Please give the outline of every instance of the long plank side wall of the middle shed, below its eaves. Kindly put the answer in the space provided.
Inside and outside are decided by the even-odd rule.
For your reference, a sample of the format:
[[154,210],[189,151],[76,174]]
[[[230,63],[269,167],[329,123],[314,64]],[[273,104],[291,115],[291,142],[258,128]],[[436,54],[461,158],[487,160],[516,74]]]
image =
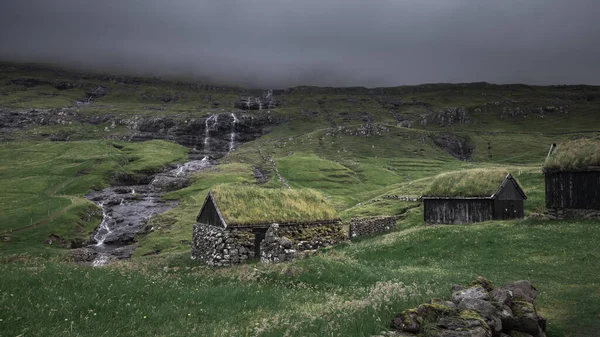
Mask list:
[[492,220],[494,201],[490,199],[424,199],[425,222],[461,224]]

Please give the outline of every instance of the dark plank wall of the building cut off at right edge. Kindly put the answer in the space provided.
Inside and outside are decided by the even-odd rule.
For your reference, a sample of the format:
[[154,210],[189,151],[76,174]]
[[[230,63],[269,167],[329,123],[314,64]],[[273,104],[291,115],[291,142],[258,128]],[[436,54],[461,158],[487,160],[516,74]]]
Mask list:
[[547,173],[546,208],[600,209],[600,172]]

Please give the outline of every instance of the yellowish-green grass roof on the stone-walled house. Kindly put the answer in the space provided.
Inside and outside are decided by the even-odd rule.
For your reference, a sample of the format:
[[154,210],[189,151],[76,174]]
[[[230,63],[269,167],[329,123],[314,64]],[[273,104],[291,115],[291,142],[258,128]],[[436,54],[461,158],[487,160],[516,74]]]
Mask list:
[[337,212],[313,189],[217,185],[211,190],[228,225],[337,220]]

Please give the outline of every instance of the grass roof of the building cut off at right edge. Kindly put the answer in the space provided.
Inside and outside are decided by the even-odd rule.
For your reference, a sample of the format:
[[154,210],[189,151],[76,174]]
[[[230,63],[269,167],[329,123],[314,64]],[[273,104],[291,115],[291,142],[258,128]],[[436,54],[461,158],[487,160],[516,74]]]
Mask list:
[[590,169],[600,169],[600,138],[560,143],[544,165],[544,172],[577,172]]

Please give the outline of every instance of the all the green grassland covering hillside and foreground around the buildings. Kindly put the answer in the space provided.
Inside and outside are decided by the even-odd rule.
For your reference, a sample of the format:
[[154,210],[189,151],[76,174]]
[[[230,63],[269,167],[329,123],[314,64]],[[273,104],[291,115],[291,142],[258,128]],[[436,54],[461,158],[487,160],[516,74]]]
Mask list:
[[[46,82],[27,87],[15,84],[20,78]],[[56,81],[74,86],[59,90]],[[99,85],[108,88],[106,96],[73,106]],[[246,93],[0,65],[0,109],[6,111],[202,117],[231,110]],[[102,217],[83,196],[120,176],[184,162],[188,149],[116,141],[132,131],[107,123],[0,134],[0,336],[371,336],[388,329],[396,313],[448,297],[453,284],[479,275],[497,285],[531,280],[548,336],[600,336],[600,223],[538,216],[545,211],[542,168],[549,146],[600,134],[600,88],[478,83],[298,87],[276,95],[282,105],[272,113],[280,125],[193,175],[186,188],[164,194],[177,206],[150,220],[154,230],[137,238],[131,260],[102,268],[69,259],[68,248],[83,242]],[[463,107],[469,121],[441,126],[423,117],[451,107]],[[366,124],[376,132],[365,134],[371,130]],[[70,140],[50,141],[55,133]],[[435,144],[447,134],[470,142],[471,161]],[[570,161],[561,158],[560,165]],[[262,187],[318,191],[317,199],[322,195],[334,209],[327,211],[343,221],[400,215],[397,228],[281,265],[209,268],[191,260],[192,225],[208,191],[258,185],[255,169],[267,177]],[[463,170],[510,172],[528,196],[527,218],[424,226],[422,205],[405,198],[439,189],[436,176]],[[489,189],[483,178],[474,178],[480,186],[463,187]]]

